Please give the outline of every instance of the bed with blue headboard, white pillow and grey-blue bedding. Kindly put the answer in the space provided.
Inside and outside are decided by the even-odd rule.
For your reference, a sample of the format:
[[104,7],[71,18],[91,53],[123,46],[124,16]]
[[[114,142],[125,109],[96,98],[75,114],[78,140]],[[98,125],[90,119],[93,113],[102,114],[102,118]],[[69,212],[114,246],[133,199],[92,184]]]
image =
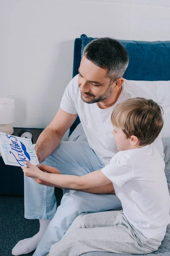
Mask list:
[[[78,74],[82,50],[94,38],[81,35],[74,43],[74,67],[73,77]],[[161,103],[164,108],[164,128],[162,130],[162,141],[164,145],[165,173],[170,192],[170,41],[128,41],[119,40],[127,49],[129,54],[129,66],[124,78],[140,84],[150,91],[152,98]],[[147,82],[145,82],[147,81]],[[82,129],[79,117],[71,126],[68,140],[87,140]],[[161,246],[156,252],[147,254],[153,256],[170,256],[170,224]],[[90,252],[85,256],[120,256],[125,254],[110,252]],[[128,254],[130,255],[130,254]],[[133,254],[134,255],[134,254]]]

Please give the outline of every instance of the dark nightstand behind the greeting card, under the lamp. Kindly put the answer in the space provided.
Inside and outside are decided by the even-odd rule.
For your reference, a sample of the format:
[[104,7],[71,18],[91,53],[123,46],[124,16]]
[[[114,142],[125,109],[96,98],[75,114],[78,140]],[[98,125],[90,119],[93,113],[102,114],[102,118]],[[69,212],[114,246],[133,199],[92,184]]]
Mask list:
[[[25,128],[14,128],[14,135]],[[33,134],[33,143],[36,143],[43,129],[28,128]],[[0,195],[23,195],[24,176],[23,170],[18,166],[8,166],[0,157]]]

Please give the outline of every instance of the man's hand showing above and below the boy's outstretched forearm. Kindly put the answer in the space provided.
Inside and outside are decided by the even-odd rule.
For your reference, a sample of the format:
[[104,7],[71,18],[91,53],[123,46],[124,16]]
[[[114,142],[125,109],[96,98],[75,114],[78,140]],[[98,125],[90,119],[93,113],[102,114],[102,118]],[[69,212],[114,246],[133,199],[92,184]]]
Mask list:
[[[55,167],[51,167],[51,166],[47,166],[45,164],[37,164],[37,167],[42,171],[42,172],[49,172],[49,173],[54,173],[54,174],[61,174],[61,172],[59,172],[59,170]],[[50,183],[50,182],[46,182],[46,181],[43,181],[43,180],[39,180],[39,179],[36,179],[36,178],[32,178],[33,180],[35,180],[38,184],[40,185],[44,185],[44,186],[56,186],[54,185],[53,183]],[[57,186],[59,187],[59,186]],[[59,187],[59,188],[62,188],[62,187]]]

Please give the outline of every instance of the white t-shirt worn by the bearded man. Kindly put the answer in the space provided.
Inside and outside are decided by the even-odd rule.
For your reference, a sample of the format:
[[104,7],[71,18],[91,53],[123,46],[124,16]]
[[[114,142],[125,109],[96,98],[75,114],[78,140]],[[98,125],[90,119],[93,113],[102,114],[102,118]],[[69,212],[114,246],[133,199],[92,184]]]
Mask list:
[[[88,144],[94,150],[96,155],[105,165],[118,152],[114,137],[112,134],[113,126],[111,123],[111,113],[116,105],[126,99],[150,96],[142,91],[136,84],[128,83],[125,80],[122,84],[122,91],[117,102],[110,108],[101,109],[97,103],[88,104],[83,102],[78,86],[78,75],[75,76],[65,89],[60,107],[65,112],[78,114],[85,131]],[[162,157],[164,157],[161,136],[154,142],[156,148]]]

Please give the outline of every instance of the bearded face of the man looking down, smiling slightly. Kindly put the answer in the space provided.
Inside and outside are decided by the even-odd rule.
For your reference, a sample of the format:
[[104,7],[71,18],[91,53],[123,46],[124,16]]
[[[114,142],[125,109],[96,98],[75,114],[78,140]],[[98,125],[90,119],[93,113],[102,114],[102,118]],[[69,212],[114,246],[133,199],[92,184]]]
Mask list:
[[113,83],[106,75],[106,69],[96,66],[85,56],[82,57],[78,84],[84,102],[88,104],[100,102],[111,95]]

